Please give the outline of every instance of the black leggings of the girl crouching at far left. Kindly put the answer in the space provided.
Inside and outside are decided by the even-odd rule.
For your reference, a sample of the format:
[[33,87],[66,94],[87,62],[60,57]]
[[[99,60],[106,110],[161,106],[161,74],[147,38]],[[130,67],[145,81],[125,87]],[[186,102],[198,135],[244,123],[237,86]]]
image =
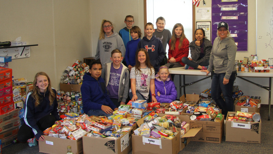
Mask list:
[[[41,118],[38,122],[37,125],[41,131],[44,131],[45,129],[52,127],[54,125],[56,119],[53,115],[49,114]],[[22,124],[20,127],[18,134],[17,134],[17,139],[20,142],[26,142],[28,139],[34,138],[34,133],[32,131],[32,128],[26,125],[26,123]],[[39,139],[39,138],[37,138]]]

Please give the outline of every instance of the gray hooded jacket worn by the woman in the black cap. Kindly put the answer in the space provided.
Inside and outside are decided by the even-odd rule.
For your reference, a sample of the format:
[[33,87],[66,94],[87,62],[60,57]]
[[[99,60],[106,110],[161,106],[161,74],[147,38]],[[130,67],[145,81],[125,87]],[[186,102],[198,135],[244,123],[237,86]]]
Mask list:
[[225,77],[229,80],[232,72],[236,72],[235,56],[237,46],[232,37],[216,37],[209,58],[208,71],[211,72],[214,66],[215,73],[226,73]]

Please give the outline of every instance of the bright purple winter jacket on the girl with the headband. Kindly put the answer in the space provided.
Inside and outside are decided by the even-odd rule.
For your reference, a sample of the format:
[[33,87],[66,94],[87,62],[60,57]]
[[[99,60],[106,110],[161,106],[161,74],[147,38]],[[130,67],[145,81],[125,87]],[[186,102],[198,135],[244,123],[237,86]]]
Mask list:
[[[155,98],[160,103],[171,103],[172,101],[177,99],[177,91],[175,85],[170,77],[167,78],[165,83],[160,80],[159,75],[157,74],[154,79],[155,85]],[[160,96],[157,95],[159,91]]]

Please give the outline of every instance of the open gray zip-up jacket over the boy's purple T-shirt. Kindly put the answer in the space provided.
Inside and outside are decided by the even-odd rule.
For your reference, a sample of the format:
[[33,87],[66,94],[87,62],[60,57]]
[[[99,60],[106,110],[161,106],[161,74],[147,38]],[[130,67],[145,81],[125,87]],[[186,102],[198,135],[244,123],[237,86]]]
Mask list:
[[[126,102],[126,99],[128,97],[129,93],[129,80],[130,80],[130,74],[129,74],[129,68],[127,68],[123,63],[120,63],[122,65],[121,70],[121,76],[120,76],[120,86],[119,86],[119,102]],[[111,69],[111,63],[106,63],[106,87],[109,83],[109,77],[110,77],[110,69]]]

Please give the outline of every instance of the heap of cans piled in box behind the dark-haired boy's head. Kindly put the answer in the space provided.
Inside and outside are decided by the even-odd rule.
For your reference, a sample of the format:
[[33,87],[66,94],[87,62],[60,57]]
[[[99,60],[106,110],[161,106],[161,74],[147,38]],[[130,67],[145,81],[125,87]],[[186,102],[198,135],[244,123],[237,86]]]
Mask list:
[[82,63],[80,60],[72,65],[68,66],[63,75],[61,76],[61,83],[65,84],[81,84],[84,73],[89,72],[89,66],[86,63]]

